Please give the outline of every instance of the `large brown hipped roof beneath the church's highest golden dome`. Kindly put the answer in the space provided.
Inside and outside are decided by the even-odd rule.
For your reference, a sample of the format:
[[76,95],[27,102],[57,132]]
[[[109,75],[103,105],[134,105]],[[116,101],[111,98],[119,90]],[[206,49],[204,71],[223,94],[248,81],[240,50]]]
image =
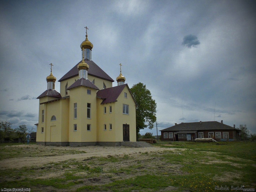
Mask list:
[[[86,62],[89,65],[88,75],[114,82],[114,80],[92,60],[84,59],[84,62]],[[69,72],[67,72],[63,77],[61,77],[59,82],[78,76],[77,66],[79,63],[77,63],[72,69],[70,69]]]

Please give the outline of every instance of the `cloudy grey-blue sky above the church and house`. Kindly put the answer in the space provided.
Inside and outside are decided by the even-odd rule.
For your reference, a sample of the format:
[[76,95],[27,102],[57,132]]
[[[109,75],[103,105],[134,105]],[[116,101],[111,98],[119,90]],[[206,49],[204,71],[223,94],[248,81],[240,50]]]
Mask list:
[[[223,120],[256,133],[255,1],[0,5],[0,120],[13,128],[38,122],[36,98],[47,89],[49,64],[57,80],[76,65],[87,26],[92,60],[113,79],[122,63],[130,88],[142,82],[151,91],[158,130]],[[156,126],[145,132],[156,135]]]

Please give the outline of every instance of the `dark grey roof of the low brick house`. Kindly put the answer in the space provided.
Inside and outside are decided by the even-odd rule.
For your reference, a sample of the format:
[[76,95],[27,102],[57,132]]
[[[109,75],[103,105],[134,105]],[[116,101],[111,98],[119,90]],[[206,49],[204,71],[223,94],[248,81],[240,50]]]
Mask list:
[[198,130],[236,130],[234,127],[217,122],[217,121],[205,121],[205,122],[191,122],[191,123],[180,123],[172,127],[168,127],[161,131],[198,131]]

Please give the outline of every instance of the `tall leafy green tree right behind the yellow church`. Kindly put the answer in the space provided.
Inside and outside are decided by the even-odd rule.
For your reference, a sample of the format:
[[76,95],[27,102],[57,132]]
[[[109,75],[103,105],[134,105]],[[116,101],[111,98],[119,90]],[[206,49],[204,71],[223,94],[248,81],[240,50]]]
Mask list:
[[156,122],[156,101],[152,99],[151,92],[146,85],[139,82],[132,86],[131,92],[137,103],[136,106],[136,137],[138,140],[141,129],[152,129]]

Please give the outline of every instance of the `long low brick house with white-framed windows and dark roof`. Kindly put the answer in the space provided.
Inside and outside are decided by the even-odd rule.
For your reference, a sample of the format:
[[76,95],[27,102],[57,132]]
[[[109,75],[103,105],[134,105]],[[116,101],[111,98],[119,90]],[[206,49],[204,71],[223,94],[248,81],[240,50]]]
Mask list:
[[240,141],[241,130],[217,121],[175,123],[161,130],[162,141],[194,141],[196,138],[213,138],[216,141]]

